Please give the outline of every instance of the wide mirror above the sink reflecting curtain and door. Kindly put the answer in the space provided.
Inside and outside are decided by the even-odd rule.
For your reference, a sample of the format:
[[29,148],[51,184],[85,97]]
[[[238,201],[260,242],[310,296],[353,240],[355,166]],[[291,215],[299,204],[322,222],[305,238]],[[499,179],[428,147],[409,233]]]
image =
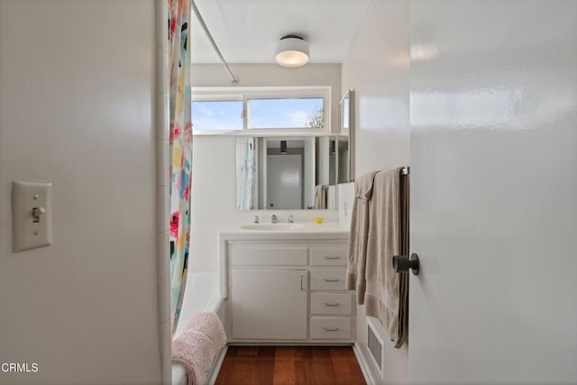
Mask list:
[[344,135],[236,138],[236,209],[336,209],[348,181]]

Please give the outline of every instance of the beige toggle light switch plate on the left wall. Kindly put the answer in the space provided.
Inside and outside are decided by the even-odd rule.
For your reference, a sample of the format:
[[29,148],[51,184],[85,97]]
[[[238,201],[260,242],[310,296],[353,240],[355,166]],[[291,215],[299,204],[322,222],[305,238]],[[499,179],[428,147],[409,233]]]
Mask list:
[[12,250],[52,243],[52,184],[12,182]]

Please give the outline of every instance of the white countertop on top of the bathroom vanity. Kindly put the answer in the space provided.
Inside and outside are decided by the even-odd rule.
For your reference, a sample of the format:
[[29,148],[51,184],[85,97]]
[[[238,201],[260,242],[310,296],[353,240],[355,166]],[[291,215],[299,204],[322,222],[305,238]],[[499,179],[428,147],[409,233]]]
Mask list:
[[342,222],[298,222],[296,225],[303,227],[294,230],[247,230],[241,225],[230,225],[218,236],[221,241],[349,239],[350,225]]

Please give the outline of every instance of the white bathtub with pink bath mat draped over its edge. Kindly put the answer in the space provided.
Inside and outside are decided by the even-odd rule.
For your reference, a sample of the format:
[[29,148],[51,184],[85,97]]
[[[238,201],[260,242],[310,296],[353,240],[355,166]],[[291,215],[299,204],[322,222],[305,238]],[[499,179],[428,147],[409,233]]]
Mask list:
[[[217,274],[215,272],[188,272],[179,325],[174,338],[182,333],[190,317],[203,311],[215,312],[223,325],[226,325],[224,323],[224,298],[218,296]],[[223,358],[224,352],[215,358],[213,374],[209,376],[209,381],[215,380],[215,374],[220,369]],[[187,385],[187,374],[182,366],[175,363],[172,364],[172,385]]]

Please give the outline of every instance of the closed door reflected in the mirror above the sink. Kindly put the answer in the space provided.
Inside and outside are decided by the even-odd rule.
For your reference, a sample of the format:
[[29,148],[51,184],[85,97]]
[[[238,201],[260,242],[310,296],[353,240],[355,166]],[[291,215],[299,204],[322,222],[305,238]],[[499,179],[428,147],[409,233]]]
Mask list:
[[302,157],[267,156],[267,208],[302,207]]

